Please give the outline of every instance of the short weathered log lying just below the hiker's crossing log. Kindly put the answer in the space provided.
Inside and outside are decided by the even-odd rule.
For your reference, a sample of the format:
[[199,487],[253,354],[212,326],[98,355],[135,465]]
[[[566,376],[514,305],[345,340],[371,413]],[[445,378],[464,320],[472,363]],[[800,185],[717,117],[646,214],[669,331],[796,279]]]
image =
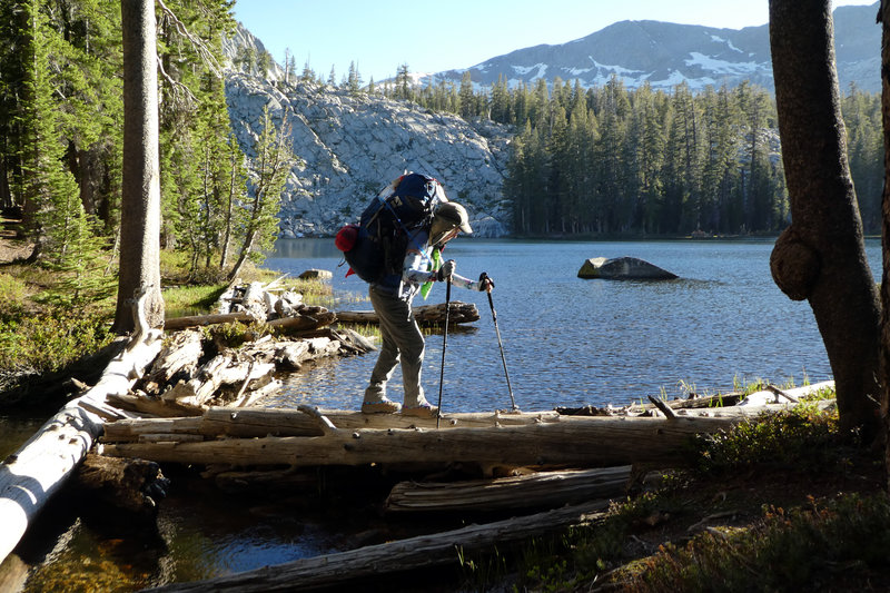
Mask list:
[[399,482],[384,504],[387,513],[502,511],[554,507],[614,498],[625,493],[631,466],[535,472],[463,482]]

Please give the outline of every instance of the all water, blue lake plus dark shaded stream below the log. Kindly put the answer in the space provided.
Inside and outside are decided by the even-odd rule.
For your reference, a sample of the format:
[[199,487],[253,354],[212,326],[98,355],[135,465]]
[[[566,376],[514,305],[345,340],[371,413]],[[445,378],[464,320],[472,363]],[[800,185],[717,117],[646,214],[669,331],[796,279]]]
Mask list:
[[[332,239],[280,241],[267,265],[298,275],[334,271],[342,309],[369,308],[366,285],[344,278]],[[876,278],[880,245],[867,245]],[[446,251],[457,271],[487,271],[496,281],[504,352],[516,404],[624,405],[664,392],[684,395],[730,391],[735,380],[774,383],[831,378],[805,303],[789,300],[769,270],[771,240],[531,243],[457,239]],[[678,280],[582,280],[590,257],[633,256],[678,274]],[[481,319],[448,335],[443,407],[446,412],[510,407],[497,337],[484,294],[454,288],[452,298],[475,303]],[[444,300],[436,286],[427,303]],[[419,304],[418,300],[416,304]],[[438,397],[441,334],[427,338],[425,387]],[[357,408],[376,354],[328,360],[293,375],[266,405]],[[390,395],[400,398],[400,375]],[[693,387],[694,386],[694,387]],[[14,451],[41,421],[0,417],[0,453]],[[376,537],[405,537],[442,527],[424,518],[382,518],[355,498],[224,494],[192,474],[177,474],[161,502],[159,533],[115,531],[82,517],[58,496],[41,513],[17,553],[30,567],[27,593],[49,590],[135,591],[246,571],[349,550]],[[348,490],[348,488],[347,488]],[[353,488],[356,490],[356,488]],[[343,496],[340,494],[339,496]]]

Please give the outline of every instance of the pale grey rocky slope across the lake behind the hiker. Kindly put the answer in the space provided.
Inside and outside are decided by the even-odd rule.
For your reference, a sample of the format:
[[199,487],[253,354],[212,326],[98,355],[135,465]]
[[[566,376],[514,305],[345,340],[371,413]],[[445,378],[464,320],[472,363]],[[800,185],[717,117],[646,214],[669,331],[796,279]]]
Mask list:
[[[237,38],[225,46],[230,58],[238,43],[258,41],[239,28]],[[506,127],[469,123],[408,101],[316,82],[284,83],[277,71],[269,73],[261,77],[229,65],[226,100],[233,130],[248,155],[261,131],[265,106],[278,125],[286,119],[290,127],[298,161],[281,198],[283,237],[335,234],[405,170],[436,177],[448,197],[469,211],[474,235],[506,234]]]

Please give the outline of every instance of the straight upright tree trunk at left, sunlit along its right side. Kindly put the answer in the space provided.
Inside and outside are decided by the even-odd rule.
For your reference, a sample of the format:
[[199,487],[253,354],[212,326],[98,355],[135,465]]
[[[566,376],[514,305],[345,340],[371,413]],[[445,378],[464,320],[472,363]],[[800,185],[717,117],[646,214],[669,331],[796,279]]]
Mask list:
[[129,299],[145,290],[146,320],[164,324],[160,294],[160,165],[157,33],[154,0],[121,0],[123,33],[123,182],[120,278],[115,330],[134,328]]

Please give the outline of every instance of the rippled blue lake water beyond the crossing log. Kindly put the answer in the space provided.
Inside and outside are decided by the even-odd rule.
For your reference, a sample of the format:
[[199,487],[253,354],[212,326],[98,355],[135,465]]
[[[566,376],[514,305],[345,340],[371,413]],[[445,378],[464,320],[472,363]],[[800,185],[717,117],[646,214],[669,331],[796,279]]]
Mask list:
[[[730,391],[735,382],[768,379],[800,385],[831,378],[810,306],[785,297],[769,269],[773,240],[640,243],[534,243],[457,239],[446,256],[457,273],[496,281],[493,303],[516,405],[623,405],[646,395]],[[868,244],[879,274],[880,245]],[[669,281],[584,280],[591,257],[633,256],[673,271]],[[345,278],[329,239],[279,241],[267,265],[298,275],[334,273],[342,309],[369,309],[366,285]],[[876,276],[880,277],[880,276]],[[426,304],[445,299],[435,286]],[[355,303],[355,298],[364,298]],[[481,319],[448,335],[443,408],[452,412],[510,407],[497,336],[485,294],[459,288],[452,298],[474,303]],[[424,304],[419,298],[415,305]],[[424,386],[438,397],[442,335],[427,338]],[[323,363],[295,375],[270,405],[309,403],[356,408],[376,353]],[[390,395],[402,397],[396,372]]]

